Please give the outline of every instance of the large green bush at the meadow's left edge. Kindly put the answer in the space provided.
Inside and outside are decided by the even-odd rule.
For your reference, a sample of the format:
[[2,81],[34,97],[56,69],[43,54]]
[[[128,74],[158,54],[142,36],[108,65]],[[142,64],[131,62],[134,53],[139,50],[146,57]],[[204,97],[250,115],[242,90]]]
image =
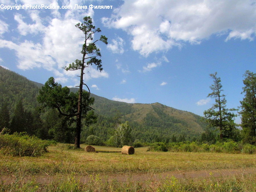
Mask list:
[[22,133],[0,135],[0,149],[8,149],[6,151],[15,156],[41,156],[50,144],[49,141]]

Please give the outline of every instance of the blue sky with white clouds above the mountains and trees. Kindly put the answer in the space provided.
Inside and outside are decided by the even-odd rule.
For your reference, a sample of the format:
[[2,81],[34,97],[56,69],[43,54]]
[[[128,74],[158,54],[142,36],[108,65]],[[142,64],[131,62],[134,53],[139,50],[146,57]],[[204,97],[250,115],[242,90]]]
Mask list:
[[84,16],[102,31],[94,40],[108,38],[97,42],[104,70],[86,68],[84,82],[110,100],[203,116],[214,103],[209,74],[221,78],[227,108],[238,108],[243,74],[256,72],[255,0],[0,0],[0,65],[42,84],[54,77],[77,86],[80,72],[62,67],[82,58],[75,24]]

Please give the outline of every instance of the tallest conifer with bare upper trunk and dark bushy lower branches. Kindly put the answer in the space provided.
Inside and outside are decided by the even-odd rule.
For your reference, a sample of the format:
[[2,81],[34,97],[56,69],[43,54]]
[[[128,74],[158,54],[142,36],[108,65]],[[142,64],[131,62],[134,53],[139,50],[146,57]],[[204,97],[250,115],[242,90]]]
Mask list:
[[[93,41],[93,36],[95,33],[101,32],[100,28],[95,29],[95,26],[92,25],[92,19],[90,16],[83,18],[83,23],[78,23],[75,25],[77,28],[82,30],[84,33],[84,44],[82,46],[82,58],[76,59],[75,63],[69,64],[69,66],[63,67],[66,71],[76,71],[80,70],[80,83],[79,83],[79,91],[76,94],[69,93],[68,87],[63,87],[61,84],[54,82],[54,78],[51,77],[40,90],[40,94],[38,96],[38,101],[40,103],[45,103],[47,106],[51,108],[56,108],[59,113],[63,116],[70,117],[69,119],[72,121],[72,117],[76,117],[76,130],[75,130],[75,147],[80,148],[80,133],[81,133],[81,121],[82,117],[91,118],[93,115],[88,114],[87,111],[92,109],[90,105],[93,104],[94,98],[90,97],[90,90],[88,86],[84,83],[84,69],[86,67],[90,67],[91,65],[96,65],[97,69],[102,71],[102,61],[96,57],[101,57],[100,49],[97,48],[96,42],[102,41],[105,44],[108,44],[105,36],[100,36],[100,38],[96,41]],[[85,85],[88,92],[83,92],[83,85]],[[77,100],[77,101],[75,101]],[[76,106],[75,106],[76,105]],[[87,116],[87,117],[86,117]],[[95,118],[94,118],[95,119]],[[87,120],[86,122],[93,122]]]

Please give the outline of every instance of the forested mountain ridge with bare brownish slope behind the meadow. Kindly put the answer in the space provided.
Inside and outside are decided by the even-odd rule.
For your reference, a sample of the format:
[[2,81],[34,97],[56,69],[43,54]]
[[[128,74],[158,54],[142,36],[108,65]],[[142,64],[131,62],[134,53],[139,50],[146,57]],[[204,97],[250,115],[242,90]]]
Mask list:
[[[17,73],[0,66],[0,107],[7,102],[13,111],[15,103],[22,98],[24,108],[32,110],[39,104],[36,102],[41,83],[30,81]],[[70,88],[76,92],[78,88]],[[95,98],[92,108],[98,114],[98,122],[84,129],[81,138],[97,135],[103,140],[113,135],[116,119],[129,121],[133,139],[143,141],[168,141],[172,135],[185,136],[186,139],[198,137],[205,130],[202,117],[191,112],[178,110],[160,103],[129,104],[109,100],[91,94]]]

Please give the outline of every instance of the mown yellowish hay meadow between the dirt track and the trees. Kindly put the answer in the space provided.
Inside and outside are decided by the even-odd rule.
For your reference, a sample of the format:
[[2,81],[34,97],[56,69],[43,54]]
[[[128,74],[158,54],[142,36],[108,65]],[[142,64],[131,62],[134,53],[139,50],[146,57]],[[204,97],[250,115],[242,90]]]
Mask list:
[[[82,148],[85,145],[81,145]],[[0,153],[1,174],[24,170],[26,174],[56,173],[125,174],[192,171],[214,169],[255,168],[255,155],[223,153],[146,152],[136,148],[132,156],[121,155],[121,148],[93,146],[99,153],[67,150],[66,144],[50,146],[40,157],[13,157]]]

